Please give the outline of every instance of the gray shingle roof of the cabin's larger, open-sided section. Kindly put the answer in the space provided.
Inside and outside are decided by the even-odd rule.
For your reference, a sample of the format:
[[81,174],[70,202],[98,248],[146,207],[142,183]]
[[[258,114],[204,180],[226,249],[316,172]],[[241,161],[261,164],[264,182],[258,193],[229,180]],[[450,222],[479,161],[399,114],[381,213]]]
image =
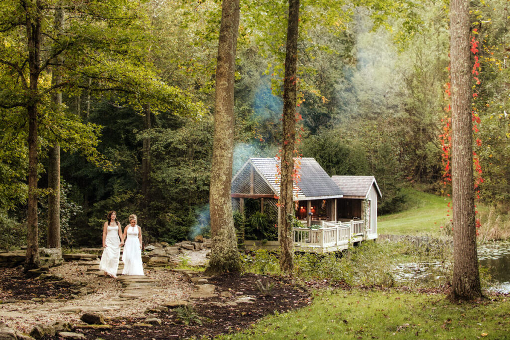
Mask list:
[[[250,158],[248,162],[268,181],[274,191],[280,193],[280,178],[277,166],[279,161],[276,158]],[[247,162],[247,163],[248,163]],[[300,160],[298,188],[294,188],[294,195],[299,199],[310,197],[342,197],[342,192],[313,158],[302,158]],[[238,175],[241,174],[241,171]],[[236,177],[238,176],[236,175]],[[234,180],[237,178],[234,177]]]

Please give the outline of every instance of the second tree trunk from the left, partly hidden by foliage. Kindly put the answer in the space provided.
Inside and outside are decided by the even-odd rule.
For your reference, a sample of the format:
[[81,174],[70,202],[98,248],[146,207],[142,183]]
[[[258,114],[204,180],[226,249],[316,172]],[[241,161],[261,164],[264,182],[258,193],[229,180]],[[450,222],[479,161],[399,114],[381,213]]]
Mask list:
[[[64,28],[64,11],[61,7],[55,10],[55,30],[59,33]],[[52,85],[62,82],[62,73],[57,65],[62,64],[61,56],[55,58],[52,68]],[[52,101],[57,112],[62,111],[62,92],[55,91]],[[48,248],[61,248],[60,243],[60,144],[55,142],[49,148],[48,167]]]

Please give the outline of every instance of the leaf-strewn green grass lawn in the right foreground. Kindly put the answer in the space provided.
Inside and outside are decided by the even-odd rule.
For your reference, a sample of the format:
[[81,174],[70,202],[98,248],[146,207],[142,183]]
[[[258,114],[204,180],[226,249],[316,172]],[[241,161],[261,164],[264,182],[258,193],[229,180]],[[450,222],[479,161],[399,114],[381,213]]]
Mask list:
[[220,339],[507,339],[510,299],[452,304],[444,295],[316,293],[312,305]]

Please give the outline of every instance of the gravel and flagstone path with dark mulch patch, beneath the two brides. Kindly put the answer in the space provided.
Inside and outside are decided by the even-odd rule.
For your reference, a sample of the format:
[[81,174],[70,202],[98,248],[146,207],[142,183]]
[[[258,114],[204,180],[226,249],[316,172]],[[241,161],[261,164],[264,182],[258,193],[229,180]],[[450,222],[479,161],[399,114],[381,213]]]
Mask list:
[[[80,286],[56,287],[23,277],[21,269],[0,269],[0,321],[23,332],[38,323],[64,320],[81,323],[85,311],[98,311],[106,318],[143,317],[148,307],[163,301],[186,299],[195,291],[181,273],[164,269],[145,269],[144,277],[106,277],[98,272],[99,261],[66,262],[50,269],[64,280]],[[72,298],[83,287],[90,294]],[[60,294],[60,295],[59,295]],[[16,300],[16,301],[14,301]],[[8,302],[8,303],[5,303]]]

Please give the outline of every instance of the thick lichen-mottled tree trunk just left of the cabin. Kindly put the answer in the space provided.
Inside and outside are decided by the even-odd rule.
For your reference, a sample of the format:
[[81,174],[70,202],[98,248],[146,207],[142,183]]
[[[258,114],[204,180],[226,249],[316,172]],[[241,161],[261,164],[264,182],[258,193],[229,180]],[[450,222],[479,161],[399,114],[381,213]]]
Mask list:
[[234,69],[239,27],[239,0],[223,0],[216,64],[214,144],[209,194],[212,249],[208,275],[241,269],[232,217],[234,144]]

